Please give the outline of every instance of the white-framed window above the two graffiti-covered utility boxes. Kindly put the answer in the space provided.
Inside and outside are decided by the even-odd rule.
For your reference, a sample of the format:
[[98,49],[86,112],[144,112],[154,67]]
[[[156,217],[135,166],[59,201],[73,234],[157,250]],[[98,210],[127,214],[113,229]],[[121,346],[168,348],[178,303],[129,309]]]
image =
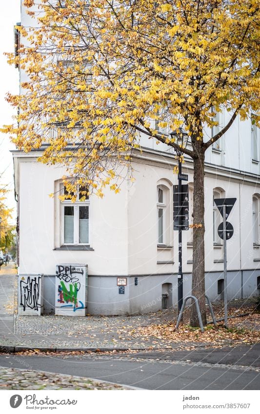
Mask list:
[[62,244],[89,244],[89,198],[87,191],[86,188],[80,187],[75,202],[66,199],[60,203]]

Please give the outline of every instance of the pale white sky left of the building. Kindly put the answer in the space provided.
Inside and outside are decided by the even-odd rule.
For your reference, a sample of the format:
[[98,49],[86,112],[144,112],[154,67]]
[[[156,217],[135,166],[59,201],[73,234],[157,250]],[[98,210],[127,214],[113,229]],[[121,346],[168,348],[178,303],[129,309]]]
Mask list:
[[[14,109],[5,101],[7,92],[19,92],[19,71],[8,65],[4,52],[14,51],[14,25],[20,21],[20,0],[1,2],[0,13],[0,126],[13,122]],[[10,192],[8,207],[14,208],[13,222],[16,220],[16,201],[14,199],[13,159],[10,150],[14,145],[9,137],[0,133],[0,175],[1,184],[6,184]]]

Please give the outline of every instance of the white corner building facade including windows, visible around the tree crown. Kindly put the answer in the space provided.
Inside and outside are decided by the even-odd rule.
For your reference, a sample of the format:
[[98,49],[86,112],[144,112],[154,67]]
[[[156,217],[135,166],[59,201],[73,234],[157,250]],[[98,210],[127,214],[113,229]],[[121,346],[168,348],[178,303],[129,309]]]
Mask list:
[[[30,24],[23,7],[21,19],[23,25]],[[21,72],[21,82],[23,76]],[[226,125],[229,117],[223,111],[220,126]],[[205,138],[210,136],[211,131],[205,130]],[[38,162],[42,149],[27,154],[13,151],[19,272],[44,276],[45,313],[55,310],[56,266],[62,263],[88,266],[88,314],[157,311],[166,293],[166,306],[177,306],[178,232],[173,229],[176,159],[166,145],[144,137],[141,143],[142,152],[133,154],[134,183],[126,179],[117,195],[107,189],[103,199],[90,196],[74,204],[60,201],[65,169]],[[185,160],[182,170],[188,174],[192,224],[191,160]],[[237,118],[220,142],[206,152],[205,285],[212,301],[223,294],[223,244],[217,232],[222,217],[214,198],[237,198],[228,217],[234,227],[234,235],[227,241],[228,300],[260,294],[259,175],[260,131],[250,118]],[[49,197],[52,193],[53,198]],[[183,231],[182,257],[186,296],[191,294],[192,229]],[[119,283],[125,285],[123,289]]]

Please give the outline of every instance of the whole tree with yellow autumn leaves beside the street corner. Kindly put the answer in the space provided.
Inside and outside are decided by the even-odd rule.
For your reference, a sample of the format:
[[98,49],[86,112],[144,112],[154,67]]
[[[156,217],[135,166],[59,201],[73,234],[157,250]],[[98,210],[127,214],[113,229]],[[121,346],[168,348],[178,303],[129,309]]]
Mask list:
[[[40,160],[66,165],[71,198],[77,185],[100,196],[105,185],[120,191],[116,165],[130,165],[140,134],[191,157],[192,294],[205,324],[204,155],[236,117],[252,110],[259,122],[258,1],[41,0],[40,17],[33,0],[24,4],[38,24],[17,27],[29,46],[9,61],[27,79],[20,96],[7,97],[20,112],[5,132],[25,152],[47,143]],[[204,128],[218,124],[222,107],[230,119],[209,139]],[[184,128],[190,145],[158,134],[150,119]],[[194,306],[191,324],[198,326]]]

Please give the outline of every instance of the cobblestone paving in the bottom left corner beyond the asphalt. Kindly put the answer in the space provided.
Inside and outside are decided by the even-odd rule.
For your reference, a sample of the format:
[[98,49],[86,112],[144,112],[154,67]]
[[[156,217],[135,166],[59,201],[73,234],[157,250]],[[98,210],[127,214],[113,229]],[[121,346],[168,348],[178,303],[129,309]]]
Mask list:
[[131,390],[91,378],[44,371],[0,368],[0,390]]

